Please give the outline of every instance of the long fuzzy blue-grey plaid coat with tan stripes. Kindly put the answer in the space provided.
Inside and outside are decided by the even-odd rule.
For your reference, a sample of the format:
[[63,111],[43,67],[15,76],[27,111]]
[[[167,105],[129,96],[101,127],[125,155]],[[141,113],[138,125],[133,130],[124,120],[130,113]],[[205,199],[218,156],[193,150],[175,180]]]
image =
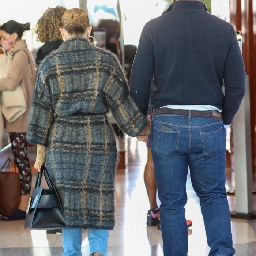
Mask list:
[[106,113],[139,135],[146,117],[111,52],[73,37],[38,69],[28,140],[46,146],[46,163],[68,227],[113,229],[117,148]]

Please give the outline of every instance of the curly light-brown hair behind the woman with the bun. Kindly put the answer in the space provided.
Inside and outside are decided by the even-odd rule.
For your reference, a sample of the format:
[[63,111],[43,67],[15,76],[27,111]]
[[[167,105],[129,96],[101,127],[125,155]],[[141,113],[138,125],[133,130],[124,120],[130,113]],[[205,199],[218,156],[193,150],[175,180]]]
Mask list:
[[67,8],[56,6],[55,8],[48,8],[44,14],[38,19],[35,28],[37,41],[46,43],[49,41],[62,40],[60,27],[61,19]]

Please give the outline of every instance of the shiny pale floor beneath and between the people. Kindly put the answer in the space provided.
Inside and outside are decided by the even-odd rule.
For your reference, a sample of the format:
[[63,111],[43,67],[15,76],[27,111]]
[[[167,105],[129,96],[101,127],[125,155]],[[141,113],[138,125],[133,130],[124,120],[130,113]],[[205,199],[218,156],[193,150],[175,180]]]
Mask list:
[[[157,226],[146,226],[149,207],[143,181],[147,148],[136,139],[126,138],[128,145],[126,169],[117,170],[116,221],[110,231],[107,256],[163,256],[162,236]],[[33,162],[34,154],[30,154]],[[227,172],[228,186],[233,186],[233,173]],[[33,181],[36,171],[33,172]],[[188,203],[186,217],[193,221],[188,229],[188,256],[207,256],[203,218],[199,200],[187,182]],[[253,196],[255,207],[255,196]],[[235,210],[234,196],[229,196],[230,209]],[[51,256],[62,255],[61,234],[46,234],[45,230],[24,230],[24,221],[0,221],[0,256]],[[232,219],[233,243],[237,256],[256,256],[256,221]],[[83,255],[88,256],[87,230],[83,230]]]

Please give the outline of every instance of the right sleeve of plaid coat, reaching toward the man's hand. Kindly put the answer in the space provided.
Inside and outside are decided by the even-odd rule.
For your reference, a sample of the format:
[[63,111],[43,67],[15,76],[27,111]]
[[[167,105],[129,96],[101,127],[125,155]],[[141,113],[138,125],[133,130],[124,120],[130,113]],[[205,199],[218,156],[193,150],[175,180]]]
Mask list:
[[143,129],[148,125],[147,118],[129,93],[127,81],[119,63],[116,64],[104,91],[107,105],[122,131],[132,137],[142,132],[145,134],[146,130],[143,131]]

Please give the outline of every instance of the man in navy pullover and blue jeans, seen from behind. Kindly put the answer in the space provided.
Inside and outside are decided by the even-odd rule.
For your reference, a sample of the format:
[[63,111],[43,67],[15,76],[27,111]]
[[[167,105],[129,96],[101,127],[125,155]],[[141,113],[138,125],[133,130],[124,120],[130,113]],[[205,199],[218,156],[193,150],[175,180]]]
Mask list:
[[[236,31],[207,12],[200,0],[173,0],[143,28],[132,66],[130,91],[147,113],[161,201],[165,256],[186,256],[188,166],[200,199],[210,256],[232,256],[225,189],[226,128],[245,94],[245,68]],[[225,93],[222,91],[225,85]],[[147,136],[138,136],[145,141]]]

